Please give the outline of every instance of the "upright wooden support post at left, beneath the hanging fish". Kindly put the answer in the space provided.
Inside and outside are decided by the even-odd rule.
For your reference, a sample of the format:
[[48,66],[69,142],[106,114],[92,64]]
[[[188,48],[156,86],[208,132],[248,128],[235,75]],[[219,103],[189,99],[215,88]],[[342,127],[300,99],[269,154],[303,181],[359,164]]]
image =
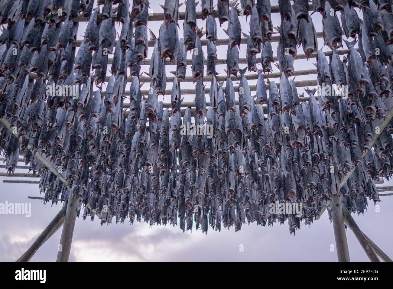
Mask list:
[[72,197],[72,199],[69,198],[56,262],[68,262],[68,259],[70,258],[71,243],[78,210],[79,198],[77,196]]

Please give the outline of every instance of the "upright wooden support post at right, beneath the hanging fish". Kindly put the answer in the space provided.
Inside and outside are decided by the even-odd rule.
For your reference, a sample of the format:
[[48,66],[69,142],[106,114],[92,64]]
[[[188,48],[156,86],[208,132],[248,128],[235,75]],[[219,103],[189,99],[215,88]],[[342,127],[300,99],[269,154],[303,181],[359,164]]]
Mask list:
[[347,236],[343,219],[343,209],[339,195],[332,195],[331,201],[334,239],[339,262],[350,262]]

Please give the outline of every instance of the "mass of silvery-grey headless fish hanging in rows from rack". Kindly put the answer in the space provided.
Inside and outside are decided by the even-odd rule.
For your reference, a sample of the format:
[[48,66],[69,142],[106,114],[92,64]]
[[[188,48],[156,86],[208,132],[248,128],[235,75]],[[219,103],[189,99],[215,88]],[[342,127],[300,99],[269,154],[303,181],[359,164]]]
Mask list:
[[[116,6],[115,4],[118,4]],[[0,0],[0,117],[23,139],[0,125],[0,151],[13,173],[20,155],[34,175],[40,175],[45,202],[81,196],[83,217],[94,215],[102,223],[145,221],[177,224],[182,230],[208,226],[220,230],[242,224],[265,226],[288,220],[294,233],[300,222],[312,223],[333,193],[352,212],[364,212],[367,198],[379,201],[375,179],[393,171],[393,122],[380,132],[374,147],[373,123],[386,119],[391,109],[393,81],[393,18],[391,1],[312,1],[323,16],[323,37],[333,53],[328,62],[317,50],[316,33],[308,1],[279,0],[281,25],[277,50],[282,72],[279,89],[265,84],[271,72],[273,26],[270,2],[202,0],[206,32],[196,27],[195,0],[185,1],[184,35],[179,39],[178,0],[166,0],[164,21],[154,42],[148,97],[140,90],[140,65],[147,56],[149,3],[134,0]],[[217,11],[214,10],[215,5]],[[114,7],[116,6],[116,7]],[[361,21],[354,10],[363,11]],[[61,9],[61,13],[59,13]],[[239,69],[241,26],[239,10],[250,16],[247,35],[248,69],[257,71],[257,96],[251,95],[244,69]],[[347,37],[348,57],[340,60],[340,21]],[[333,12],[332,12],[333,11]],[[217,26],[228,22],[226,86],[217,83],[215,62]],[[115,16],[116,15],[116,16]],[[88,19],[84,39],[75,55],[77,17]],[[114,21],[122,23],[116,42]],[[200,38],[206,34],[207,72]],[[307,89],[308,102],[300,102],[293,72],[296,45],[307,57],[317,53],[318,85],[347,85],[349,98]],[[107,77],[108,54],[112,75]],[[192,122],[191,109],[182,116],[180,81],[185,77],[187,52],[192,52],[195,84],[195,123],[213,127],[207,134],[181,134]],[[17,53],[15,53],[17,52]],[[108,53],[105,53],[108,52]],[[165,60],[176,61],[171,110],[163,109],[158,94],[165,94]],[[367,65],[366,65],[367,64]],[[94,73],[91,74],[91,70]],[[130,72],[130,74],[128,74]],[[234,87],[231,75],[240,73]],[[33,77],[33,75],[36,75]],[[130,111],[123,102],[127,75],[131,76]],[[203,77],[211,77],[207,107]],[[107,82],[105,92],[93,91]],[[79,85],[79,97],[47,96],[47,85]],[[235,90],[239,92],[236,104]],[[267,104],[263,106],[262,103]],[[266,117],[267,115],[267,117]],[[147,125],[148,124],[148,125]],[[50,159],[59,168],[64,185],[28,149]],[[365,154],[365,157],[362,157]],[[340,188],[343,177],[354,173]],[[301,203],[301,216],[271,213],[271,203]]]

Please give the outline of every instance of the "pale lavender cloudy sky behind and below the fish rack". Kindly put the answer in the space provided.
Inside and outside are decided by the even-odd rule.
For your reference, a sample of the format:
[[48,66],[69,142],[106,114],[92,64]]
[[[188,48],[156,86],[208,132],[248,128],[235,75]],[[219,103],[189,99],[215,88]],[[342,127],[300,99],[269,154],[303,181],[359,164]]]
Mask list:
[[[132,2],[132,1],[130,1]],[[183,0],[180,0],[182,3]],[[215,1],[217,2],[217,1]],[[163,1],[150,1],[153,13],[161,13],[163,9],[158,5]],[[271,1],[272,5],[277,5],[277,1]],[[131,4],[132,5],[132,4]],[[179,10],[184,11],[183,4]],[[197,6],[197,11],[201,10],[201,2]],[[217,8],[215,8],[217,9]],[[340,16],[340,13],[337,13]],[[359,14],[361,16],[361,13]],[[322,31],[321,15],[312,15],[314,26],[317,32]],[[219,39],[227,38],[222,30],[228,28],[228,22],[222,24],[220,28],[217,20],[217,36]],[[249,34],[250,17],[240,17],[242,32]],[[279,26],[279,13],[272,13],[274,26]],[[198,27],[206,30],[206,21],[197,20]],[[149,22],[148,29],[158,37],[161,21]],[[179,35],[182,33],[183,20],[179,21]],[[78,39],[83,39],[83,29],[86,24],[79,24]],[[116,30],[120,31],[121,26],[116,24]],[[202,37],[205,39],[206,37]],[[345,37],[344,37],[345,38]],[[276,56],[277,42],[272,42],[273,55]],[[323,39],[318,39],[318,48],[323,51],[330,51],[327,46],[323,46]],[[344,47],[345,49],[347,47]],[[206,46],[203,47],[205,57],[207,55]],[[219,58],[225,58],[227,46],[217,46]],[[152,54],[149,49],[148,59]],[[303,54],[301,47],[298,54]],[[260,55],[257,55],[259,57]],[[246,44],[241,45],[239,58],[246,57]],[[341,56],[342,57],[342,56]],[[187,59],[191,59],[190,52]],[[316,59],[295,60],[295,70],[314,69],[313,63]],[[239,64],[244,68],[246,64]],[[279,70],[272,65],[274,72]],[[259,65],[259,68],[261,66]],[[110,66],[108,66],[110,69]],[[217,65],[217,72],[226,75],[224,69],[226,65]],[[167,75],[174,71],[175,66],[167,66]],[[142,66],[142,71],[148,72],[149,66]],[[205,70],[206,73],[206,70]],[[253,74],[247,72],[247,74]],[[109,73],[108,73],[109,75]],[[191,67],[187,68],[187,76],[191,76]],[[316,79],[316,75],[297,76],[296,80]],[[279,79],[270,79],[270,81]],[[209,79],[205,77],[207,87],[210,86]],[[249,85],[256,84],[256,80],[248,81]],[[238,81],[234,81],[236,86]],[[105,86],[104,86],[105,87]],[[142,90],[148,89],[148,83],[142,86]],[[182,83],[182,88],[193,88],[192,83]],[[167,83],[167,89],[172,88],[172,83]],[[129,90],[127,85],[126,90]],[[304,88],[298,88],[299,94],[304,92]],[[254,95],[255,92],[252,92]],[[194,101],[195,96],[184,95],[184,101]],[[206,95],[209,101],[208,94]],[[170,102],[170,96],[159,100]],[[2,163],[2,162],[0,162]],[[18,163],[18,165],[23,165]],[[0,172],[5,172],[0,169]],[[27,172],[19,169],[17,172]],[[50,223],[53,217],[61,209],[62,204],[51,206],[50,203],[44,205],[40,200],[28,199],[28,196],[40,196],[38,184],[9,184],[3,183],[4,179],[31,180],[31,178],[11,178],[0,177],[0,203],[6,201],[13,203],[31,203],[31,217],[24,215],[4,215],[0,214],[0,261],[15,261],[33,241],[39,236],[44,228]],[[384,184],[378,186],[393,185],[393,181],[385,180]],[[42,195],[41,195],[42,196]],[[378,245],[384,252],[393,257],[393,196],[380,197],[381,202],[376,208],[372,201],[364,215],[353,215],[360,229]],[[94,222],[87,218],[83,221],[78,218],[75,224],[70,261],[337,261],[337,254],[332,246],[334,245],[333,226],[330,223],[328,214],[325,212],[318,221],[314,221],[311,226],[301,224],[300,230],[296,231],[296,236],[290,235],[288,224],[257,227],[256,224],[243,225],[240,232],[223,229],[221,232],[211,230],[208,234],[202,234],[201,230],[192,232],[182,232],[179,227],[167,225],[149,227],[147,223],[135,221],[130,226],[128,219],[124,224],[103,225],[97,217]],[[348,229],[347,239],[351,261],[368,261],[362,247],[356,240],[354,234]],[[57,248],[60,241],[61,230],[54,234],[33,256],[31,261],[55,261]]]

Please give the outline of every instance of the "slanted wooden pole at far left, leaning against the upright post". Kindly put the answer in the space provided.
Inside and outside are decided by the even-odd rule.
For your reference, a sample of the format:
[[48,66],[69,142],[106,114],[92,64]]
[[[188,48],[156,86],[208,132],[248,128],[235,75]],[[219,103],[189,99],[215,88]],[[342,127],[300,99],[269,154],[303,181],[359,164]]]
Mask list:
[[51,237],[53,234],[59,230],[59,228],[64,223],[64,216],[66,214],[67,206],[63,206],[59,213],[53,218],[53,220],[49,223],[48,226],[44,229],[44,231],[37,237],[34,243],[29,247],[29,249],[24,252],[22,256],[19,257],[17,262],[28,262],[34,256],[35,252],[44,245],[44,243]]

